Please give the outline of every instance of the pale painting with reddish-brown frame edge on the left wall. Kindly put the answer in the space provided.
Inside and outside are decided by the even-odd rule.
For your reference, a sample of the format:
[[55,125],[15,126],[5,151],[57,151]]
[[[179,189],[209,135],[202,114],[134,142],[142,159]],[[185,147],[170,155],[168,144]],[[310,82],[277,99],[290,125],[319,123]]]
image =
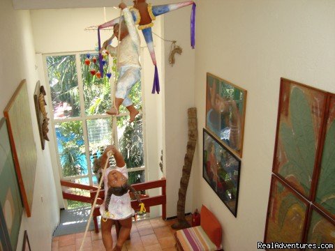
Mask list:
[[10,146],[13,152],[17,181],[27,217],[31,216],[36,174],[34,140],[27,83],[24,79],[3,111],[6,117]]

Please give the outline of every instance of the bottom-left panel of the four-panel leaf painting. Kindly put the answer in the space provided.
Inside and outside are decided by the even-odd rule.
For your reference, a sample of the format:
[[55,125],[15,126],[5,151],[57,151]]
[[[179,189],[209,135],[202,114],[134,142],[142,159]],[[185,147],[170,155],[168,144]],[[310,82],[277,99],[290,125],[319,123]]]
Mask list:
[[[278,192],[278,190],[280,190],[280,187],[282,187],[282,191]],[[295,200],[294,200],[295,199]],[[298,202],[298,203],[297,203]],[[298,204],[298,205],[297,205]],[[301,206],[302,204],[304,204],[304,206],[306,206],[306,208],[299,208],[299,206]],[[279,205],[278,208],[276,208],[275,205]],[[287,209],[287,211],[285,211],[285,209]],[[284,210],[284,211],[283,211]],[[271,225],[270,223],[270,219],[269,219],[269,215],[271,215],[271,222],[278,222],[281,223],[281,231],[285,232],[285,234],[287,234],[287,229],[285,229],[286,225],[285,222],[287,220],[292,220],[292,218],[290,219],[290,216],[292,215],[292,217],[294,218],[299,218],[297,217],[297,215],[294,215],[291,211],[293,212],[299,212],[301,213],[301,210],[303,210],[303,214],[304,214],[304,219],[303,222],[295,222],[295,224],[300,223],[301,225],[301,231],[299,232],[299,234],[301,234],[301,236],[298,236],[298,239],[291,239],[291,240],[283,240],[281,239],[280,236],[280,232],[279,233],[272,233],[272,236],[276,236],[279,239],[268,239],[269,237],[269,225]],[[274,211],[276,213],[274,213]],[[298,192],[296,192],[292,187],[290,187],[290,185],[288,185],[287,183],[285,183],[285,181],[283,181],[279,176],[276,176],[276,174],[272,174],[271,176],[271,188],[270,188],[270,192],[269,192],[269,203],[268,203],[268,207],[267,207],[267,221],[265,224],[265,234],[264,234],[264,243],[302,243],[302,241],[305,238],[305,231],[304,229],[306,228],[306,224],[307,224],[307,218],[308,218],[308,211],[309,211],[309,204],[308,201],[302,197]],[[285,217],[283,218],[283,213],[285,213]],[[301,217],[301,215],[299,215]],[[276,218],[276,219],[275,219]],[[287,224],[292,223],[292,222],[288,222]],[[274,226],[273,229],[276,229],[276,227],[278,226]],[[299,231],[299,229],[295,229],[297,231]],[[292,236],[292,234],[294,233],[290,233],[291,237],[295,237]],[[265,250],[269,250],[267,248],[265,248]]]

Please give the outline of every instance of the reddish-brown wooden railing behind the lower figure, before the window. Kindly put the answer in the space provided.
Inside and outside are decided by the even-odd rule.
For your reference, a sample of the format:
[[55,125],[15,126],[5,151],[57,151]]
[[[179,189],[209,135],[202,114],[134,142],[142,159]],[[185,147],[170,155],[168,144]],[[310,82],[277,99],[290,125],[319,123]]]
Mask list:
[[[64,181],[61,180],[61,186],[67,187],[67,188],[77,188],[81,190],[88,190],[90,193],[90,196],[84,196],[84,195],[75,195],[71,192],[63,191],[63,198],[64,199],[70,199],[74,201],[81,201],[93,204],[94,198],[96,197],[96,192],[98,191],[98,187],[92,186],[92,185],[82,185],[78,183],[73,183],[70,181]],[[148,197],[147,195],[141,195],[141,200],[144,203],[145,207],[147,208],[147,211],[149,212],[150,206],[159,206],[162,205],[162,219],[166,219],[166,179],[162,178],[158,181],[148,181],[144,183],[137,183],[132,185],[133,188],[137,191],[141,190],[149,190],[153,188],[162,188],[161,195]],[[103,203],[103,199],[105,197],[105,191],[100,190],[97,200],[97,205],[101,205]],[[135,211],[139,211],[140,207],[138,206],[138,202],[136,200],[131,201],[131,206],[134,208]],[[98,211],[98,208],[94,209],[94,225],[96,227],[97,231],[97,222],[96,222],[96,216],[98,216],[100,213]]]

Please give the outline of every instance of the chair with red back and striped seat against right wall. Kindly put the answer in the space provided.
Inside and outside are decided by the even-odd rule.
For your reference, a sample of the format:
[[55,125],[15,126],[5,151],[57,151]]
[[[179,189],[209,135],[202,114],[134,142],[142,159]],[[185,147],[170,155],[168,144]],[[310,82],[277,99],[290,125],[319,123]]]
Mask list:
[[220,222],[206,206],[201,208],[200,226],[178,230],[176,238],[179,251],[215,251],[221,246],[222,229]]

